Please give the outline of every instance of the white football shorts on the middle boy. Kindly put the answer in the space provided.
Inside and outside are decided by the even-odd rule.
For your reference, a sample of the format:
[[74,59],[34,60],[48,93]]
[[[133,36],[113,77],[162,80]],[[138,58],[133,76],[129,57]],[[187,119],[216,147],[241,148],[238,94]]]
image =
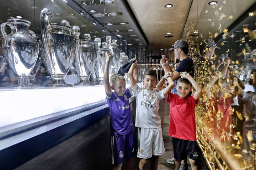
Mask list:
[[148,159],[152,155],[165,153],[162,128],[138,128],[138,158]]

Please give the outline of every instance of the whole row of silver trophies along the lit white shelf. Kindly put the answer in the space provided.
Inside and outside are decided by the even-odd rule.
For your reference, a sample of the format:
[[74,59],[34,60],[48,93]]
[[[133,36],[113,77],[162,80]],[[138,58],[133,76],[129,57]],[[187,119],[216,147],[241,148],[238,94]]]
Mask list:
[[[33,68],[40,66],[39,52],[53,78],[52,83],[45,87],[72,87],[73,85],[64,82],[64,78],[73,66],[80,78],[80,82],[74,86],[103,85],[103,71],[108,53],[113,55],[110,74],[117,73],[120,50],[116,40],[106,36],[106,42],[101,43],[100,38],[92,41],[90,34],[79,39],[78,26],[70,27],[65,20],[61,24],[51,23],[51,18],[52,12],[44,8],[40,15],[41,37],[28,29],[31,22],[25,19],[8,19],[1,24],[5,59],[18,75],[18,85],[14,88],[35,88],[30,83],[30,77]],[[6,34],[6,26],[10,27],[10,34]],[[92,76],[90,82],[91,74],[95,76]]]

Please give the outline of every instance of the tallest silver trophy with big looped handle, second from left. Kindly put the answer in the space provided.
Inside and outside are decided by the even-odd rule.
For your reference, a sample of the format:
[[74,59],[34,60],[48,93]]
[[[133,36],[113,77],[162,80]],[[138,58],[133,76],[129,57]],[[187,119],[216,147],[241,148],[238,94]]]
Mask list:
[[[41,11],[41,33],[43,59],[53,81],[45,87],[72,87],[64,82],[74,57],[76,47],[76,26],[73,29],[68,21],[61,24],[50,23],[52,12],[47,8]],[[72,32],[72,35],[71,35]]]

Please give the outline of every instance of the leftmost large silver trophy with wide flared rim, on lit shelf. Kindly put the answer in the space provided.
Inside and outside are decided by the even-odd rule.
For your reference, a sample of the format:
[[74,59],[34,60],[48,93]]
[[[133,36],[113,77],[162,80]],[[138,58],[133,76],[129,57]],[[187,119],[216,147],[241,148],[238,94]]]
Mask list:
[[[39,47],[36,35],[28,30],[31,22],[25,19],[8,19],[1,24],[3,35],[2,46],[10,67],[18,75],[18,85],[13,88],[36,88],[30,85],[28,75],[36,64]],[[11,33],[6,34],[5,27],[11,28]],[[31,34],[31,35],[30,35]]]

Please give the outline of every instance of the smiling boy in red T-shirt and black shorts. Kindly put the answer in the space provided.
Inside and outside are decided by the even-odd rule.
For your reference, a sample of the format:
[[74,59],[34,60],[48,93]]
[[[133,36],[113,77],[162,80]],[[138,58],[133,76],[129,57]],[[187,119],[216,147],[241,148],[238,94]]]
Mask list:
[[[177,81],[178,95],[168,93],[170,103],[170,125],[168,135],[172,136],[174,148],[175,170],[180,168],[181,160],[185,159],[187,151],[192,170],[197,170],[198,146],[196,142],[196,121],[194,108],[202,94],[202,87],[187,72],[181,72]],[[188,96],[192,86],[196,90]]]

